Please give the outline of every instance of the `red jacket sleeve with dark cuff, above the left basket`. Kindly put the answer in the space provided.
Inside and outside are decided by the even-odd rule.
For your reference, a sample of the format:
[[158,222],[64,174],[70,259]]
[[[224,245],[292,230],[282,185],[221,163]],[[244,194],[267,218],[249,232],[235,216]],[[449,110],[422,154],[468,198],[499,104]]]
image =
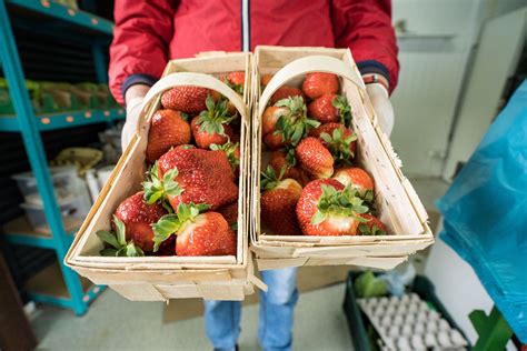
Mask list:
[[116,0],[113,41],[110,47],[110,90],[125,103],[135,83],[153,84],[162,74],[173,31],[176,1]]

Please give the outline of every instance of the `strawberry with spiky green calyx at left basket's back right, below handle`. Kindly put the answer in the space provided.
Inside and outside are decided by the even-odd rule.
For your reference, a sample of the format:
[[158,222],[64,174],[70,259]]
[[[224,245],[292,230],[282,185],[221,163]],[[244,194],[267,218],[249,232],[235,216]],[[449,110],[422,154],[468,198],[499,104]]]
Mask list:
[[223,144],[229,140],[232,129],[227,127],[237,116],[230,116],[227,100],[215,102],[207,97],[207,110],[195,117],[190,123],[196,143],[201,149],[208,149],[211,143]]

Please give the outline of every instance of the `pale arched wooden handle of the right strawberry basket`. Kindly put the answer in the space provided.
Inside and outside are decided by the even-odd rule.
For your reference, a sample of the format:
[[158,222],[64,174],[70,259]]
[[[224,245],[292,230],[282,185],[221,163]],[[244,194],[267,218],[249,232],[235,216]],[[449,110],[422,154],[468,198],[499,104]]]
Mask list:
[[264,114],[269,99],[278,90],[278,88],[280,88],[287,81],[309,72],[326,72],[337,74],[356,84],[359,90],[365,91],[365,84],[362,80],[357,76],[356,72],[352,71],[351,67],[348,67],[348,64],[346,64],[344,61],[329,56],[308,56],[286,64],[272,77],[261,93],[258,107],[258,116],[261,117]]

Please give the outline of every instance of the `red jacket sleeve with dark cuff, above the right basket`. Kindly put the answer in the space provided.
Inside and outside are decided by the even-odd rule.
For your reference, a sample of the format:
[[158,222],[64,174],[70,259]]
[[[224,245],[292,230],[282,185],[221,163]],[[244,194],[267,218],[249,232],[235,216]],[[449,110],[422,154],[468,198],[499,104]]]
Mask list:
[[391,0],[332,0],[331,3],[335,46],[351,49],[362,74],[386,77],[391,93],[399,76]]

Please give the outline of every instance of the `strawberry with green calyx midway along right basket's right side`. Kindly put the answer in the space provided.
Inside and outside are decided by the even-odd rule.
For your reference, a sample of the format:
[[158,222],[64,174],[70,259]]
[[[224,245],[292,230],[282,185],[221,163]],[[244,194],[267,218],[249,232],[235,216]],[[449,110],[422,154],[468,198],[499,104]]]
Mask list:
[[326,123],[309,131],[331,152],[336,162],[351,163],[357,151],[357,136],[340,123]]

